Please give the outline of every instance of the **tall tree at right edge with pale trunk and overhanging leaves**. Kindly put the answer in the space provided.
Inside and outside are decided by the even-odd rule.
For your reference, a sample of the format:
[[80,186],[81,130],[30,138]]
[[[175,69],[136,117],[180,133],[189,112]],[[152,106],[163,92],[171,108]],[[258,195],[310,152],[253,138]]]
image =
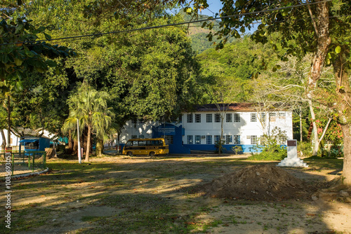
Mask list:
[[[197,1],[202,3],[204,1]],[[286,50],[281,57],[288,55],[303,57],[313,53],[308,82],[307,97],[314,102],[319,99],[315,92],[324,66],[332,65],[335,81],[338,85],[335,105],[331,111],[338,114],[338,122],[344,136],[343,177],[345,184],[351,185],[351,87],[350,87],[350,1],[339,0],[222,0],[220,31],[217,35],[223,39],[239,36],[239,32],[251,29],[259,22],[258,29],[251,38],[257,42],[279,44]],[[307,4],[306,4],[307,3]],[[300,6],[299,6],[300,5]],[[197,7],[197,5],[195,6]],[[199,7],[197,7],[199,9]],[[195,11],[197,13],[197,11]],[[274,41],[271,35],[279,32],[282,37]]]

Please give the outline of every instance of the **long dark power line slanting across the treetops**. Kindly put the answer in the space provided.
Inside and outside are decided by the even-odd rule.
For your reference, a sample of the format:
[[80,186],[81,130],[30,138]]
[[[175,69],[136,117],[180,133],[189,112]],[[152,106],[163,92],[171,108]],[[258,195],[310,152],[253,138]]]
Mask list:
[[[157,26],[150,26],[150,27],[142,27],[138,29],[128,29],[128,30],[122,30],[122,31],[116,31],[116,32],[102,32],[98,34],[86,34],[86,35],[79,35],[79,36],[67,36],[67,37],[62,37],[58,39],[50,39],[50,40],[38,40],[38,41],[22,41],[22,43],[38,43],[38,42],[44,42],[44,41],[60,41],[60,40],[66,40],[66,39],[80,39],[83,37],[90,37],[90,36],[103,36],[103,35],[108,35],[108,34],[122,34],[122,33],[128,33],[128,32],[135,32],[135,31],[140,31],[140,30],[147,30],[147,29],[159,29],[163,27],[174,27],[178,25],[187,25],[187,24],[192,24],[192,23],[197,23],[197,22],[206,22],[206,21],[213,21],[213,20],[222,20],[225,18],[233,18],[233,17],[241,17],[245,15],[253,15],[253,14],[259,14],[259,13],[267,13],[271,11],[279,11],[279,10],[284,10],[284,9],[289,9],[289,8],[298,8],[300,6],[308,6],[308,5],[315,5],[315,4],[321,4],[324,2],[328,2],[332,0],[324,0],[324,1],[318,1],[314,3],[309,3],[309,4],[299,4],[299,5],[293,5],[293,6],[284,6],[281,8],[273,8],[273,9],[267,9],[264,11],[253,11],[249,13],[242,13],[242,14],[237,14],[237,15],[226,15],[218,18],[211,18],[211,19],[204,19],[204,20],[194,20],[194,21],[188,21],[188,22],[178,22],[174,24],[168,24],[168,25],[157,25]],[[13,42],[13,43],[2,43],[0,46],[6,46],[6,45],[13,45],[17,44],[19,42]]]

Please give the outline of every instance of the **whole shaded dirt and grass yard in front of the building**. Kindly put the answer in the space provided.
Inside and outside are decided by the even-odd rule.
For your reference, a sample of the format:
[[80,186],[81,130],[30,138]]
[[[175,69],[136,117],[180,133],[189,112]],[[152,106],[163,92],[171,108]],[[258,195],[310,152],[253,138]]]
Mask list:
[[[13,233],[351,233],[351,190],[330,182],[340,170],[307,163],[310,167],[276,172],[267,165],[277,162],[240,156],[111,156],[81,165],[50,160],[52,172],[13,181]],[[270,183],[287,183],[272,184],[282,197],[256,194],[262,182],[253,177],[263,177],[258,165],[267,172],[261,179],[265,186],[267,177]],[[235,174],[239,171],[241,177]],[[242,174],[249,172],[243,181]],[[251,183],[252,199],[250,193],[221,197],[199,190],[219,178],[231,181],[231,194]],[[326,182],[328,187],[321,186]],[[226,190],[228,183],[217,190]],[[304,195],[289,195],[291,186]],[[4,198],[4,182],[0,188]],[[0,227],[0,233],[10,232]]]

